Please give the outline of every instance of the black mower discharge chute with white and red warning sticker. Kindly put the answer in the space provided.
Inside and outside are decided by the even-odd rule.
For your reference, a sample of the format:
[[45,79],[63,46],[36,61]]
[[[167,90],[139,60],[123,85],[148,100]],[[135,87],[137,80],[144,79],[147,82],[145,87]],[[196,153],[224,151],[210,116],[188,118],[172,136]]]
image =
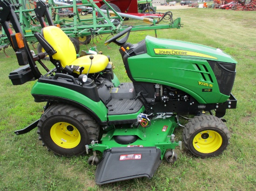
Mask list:
[[97,166],[96,184],[152,178],[161,162],[161,150],[156,147],[113,147],[104,151]]

